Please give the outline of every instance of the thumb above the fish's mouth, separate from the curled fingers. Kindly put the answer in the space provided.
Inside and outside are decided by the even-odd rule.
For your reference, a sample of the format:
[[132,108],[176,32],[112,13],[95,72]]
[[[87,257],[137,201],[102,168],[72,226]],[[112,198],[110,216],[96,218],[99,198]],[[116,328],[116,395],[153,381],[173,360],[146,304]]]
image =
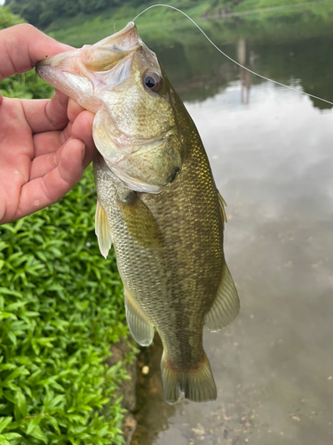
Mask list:
[[1,30],[0,48],[1,78],[33,69],[38,61],[72,49],[27,23]]

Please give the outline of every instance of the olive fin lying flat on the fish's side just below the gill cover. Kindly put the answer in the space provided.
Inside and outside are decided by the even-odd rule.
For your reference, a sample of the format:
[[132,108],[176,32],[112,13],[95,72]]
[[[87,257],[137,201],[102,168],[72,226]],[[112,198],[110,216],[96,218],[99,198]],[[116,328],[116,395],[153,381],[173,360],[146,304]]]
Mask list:
[[135,191],[128,193],[125,198],[119,198],[118,204],[131,237],[139,245],[149,248],[163,247],[163,234],[154,216]]

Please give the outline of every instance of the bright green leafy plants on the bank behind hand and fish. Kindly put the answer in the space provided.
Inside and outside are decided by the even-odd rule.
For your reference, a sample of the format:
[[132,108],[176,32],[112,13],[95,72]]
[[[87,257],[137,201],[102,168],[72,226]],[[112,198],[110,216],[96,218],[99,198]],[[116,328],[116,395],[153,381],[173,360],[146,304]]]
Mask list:
[[[38,98],[52,88],[31,71],[0,92]],[[116,393],[129,377],[106,359],[128,328],[115,255],[99,253],[95,204],[89,168],[59,203],[0,226],[1,445],[123,443]],[[134,349],[124,361],[133,358]]]

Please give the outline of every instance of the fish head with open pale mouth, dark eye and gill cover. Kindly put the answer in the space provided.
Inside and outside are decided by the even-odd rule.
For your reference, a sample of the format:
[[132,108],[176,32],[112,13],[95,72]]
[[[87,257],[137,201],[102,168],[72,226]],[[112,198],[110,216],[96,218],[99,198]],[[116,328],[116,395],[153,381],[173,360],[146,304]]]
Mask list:
[[40,62],[36,72],[96,113],[96,147],[131,190],[170,190],[186,153],[180,100],[133,22],[97,44]]

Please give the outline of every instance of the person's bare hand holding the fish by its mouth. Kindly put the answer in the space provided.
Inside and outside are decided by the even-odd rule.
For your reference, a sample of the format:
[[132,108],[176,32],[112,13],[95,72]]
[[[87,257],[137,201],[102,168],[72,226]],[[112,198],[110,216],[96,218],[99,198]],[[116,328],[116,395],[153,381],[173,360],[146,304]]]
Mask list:
[[[0,31],[0,81],[72,49],[31,25]],[[63,93],[51,100],[0,94],[0,224],[50,206],[82,177],[96,154],[94,115]]]

